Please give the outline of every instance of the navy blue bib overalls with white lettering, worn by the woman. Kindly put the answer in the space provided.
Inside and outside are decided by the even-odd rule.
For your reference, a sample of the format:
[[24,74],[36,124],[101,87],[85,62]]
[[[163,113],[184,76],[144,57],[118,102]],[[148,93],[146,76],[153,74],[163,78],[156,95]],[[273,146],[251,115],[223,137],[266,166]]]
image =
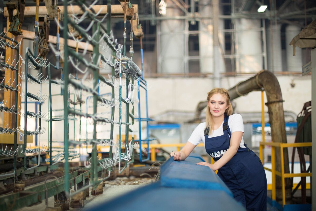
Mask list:
[[[231,132],[228,127],[228,116],[225,113],[222,136],[209,138],[209,129],[205,129],[205,149],[215,161],[227,151]],[[246,146],[246,144],[245,144]],[[223,180],[247,210],[267,209],[267,179],[258,156],[249,148],[239,147],[237,153],[222,166],[217,175]]]

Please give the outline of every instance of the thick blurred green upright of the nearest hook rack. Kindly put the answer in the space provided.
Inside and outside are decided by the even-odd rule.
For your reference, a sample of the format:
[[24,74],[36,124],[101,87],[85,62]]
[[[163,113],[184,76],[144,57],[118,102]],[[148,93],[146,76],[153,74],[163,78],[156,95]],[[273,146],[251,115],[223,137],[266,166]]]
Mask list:
[[[64,8],[67,8],[67,1],[64,1]],[[64,40],[68,40],[68,14],[67,9],[64,9]],[[69,163],[68,163],[68,83],[69,83],[69,73],[68,73],[68,43],[64,42],[64,171],[65,171],[65,192],[69,195]]]

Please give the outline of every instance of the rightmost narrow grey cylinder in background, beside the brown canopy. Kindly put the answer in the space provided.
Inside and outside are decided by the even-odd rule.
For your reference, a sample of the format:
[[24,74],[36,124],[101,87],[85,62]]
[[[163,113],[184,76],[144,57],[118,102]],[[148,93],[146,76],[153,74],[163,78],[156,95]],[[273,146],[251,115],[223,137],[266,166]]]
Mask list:
[[288,25],[285,28],[285,40],[286,40],[286,59],[287,69],[286,71],[301,72],[302,71],[302,49],[299,47],[295,48],[295,56],[293,56],[293,47],[289,45],[293,37],[301,32],[301,27]]

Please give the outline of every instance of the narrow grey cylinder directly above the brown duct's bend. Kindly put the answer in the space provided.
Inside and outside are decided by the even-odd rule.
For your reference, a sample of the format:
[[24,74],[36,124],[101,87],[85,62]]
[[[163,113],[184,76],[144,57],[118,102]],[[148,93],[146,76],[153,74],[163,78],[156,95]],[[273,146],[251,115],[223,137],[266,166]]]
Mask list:
[[[272,30],[272,31],[271,31]],[[281,25],[268,24],[266,27],[268,69],[282,71]]]

